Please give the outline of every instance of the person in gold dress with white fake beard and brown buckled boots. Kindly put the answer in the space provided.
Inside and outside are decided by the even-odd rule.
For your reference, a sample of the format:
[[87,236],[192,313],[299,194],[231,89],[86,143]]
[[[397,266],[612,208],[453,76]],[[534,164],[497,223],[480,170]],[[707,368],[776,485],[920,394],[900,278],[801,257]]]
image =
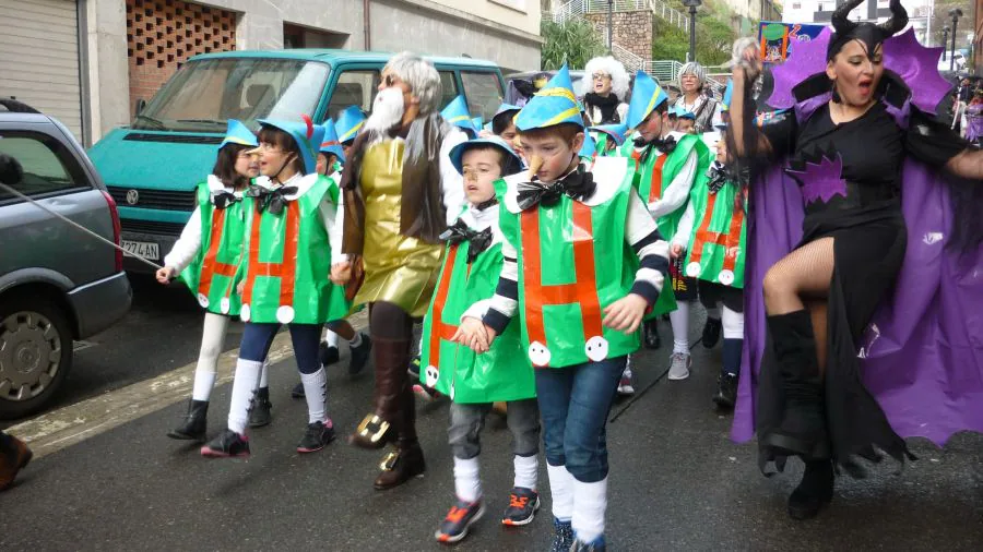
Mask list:
[[426,312],[440,271],[438,236],[464,201],[449,152],[466,136],[440,117],[440,97],[433,64],[406,52],[393,57],[342,178],[342,249],[350,256],[332,267],[331,277],[348,283],[364,268],[354,303],[369,307],[376,362],[375,409],[350,441],[364,448],[395,444],[376,479],[379,490],[426,469],[406,372],[413,320]]

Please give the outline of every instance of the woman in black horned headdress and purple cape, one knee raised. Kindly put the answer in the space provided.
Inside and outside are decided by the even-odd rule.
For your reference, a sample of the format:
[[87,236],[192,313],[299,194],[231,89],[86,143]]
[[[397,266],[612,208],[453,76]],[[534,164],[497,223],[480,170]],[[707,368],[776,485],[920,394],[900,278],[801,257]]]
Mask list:
[[[789,456],[803,459],[789,499],[796,519],[832,499],[836,467],[860,477],[858,458],[877,461],[880,451],[910,457],[899,432],[940,443],[961,429],[983,430],[983,320],[970,314],[969,326],[952,327],[944,312],[958,310],[960,299],[976,300],[979,311],[983,300],[981,217],[957,213],[952,225],[948,203],[950,193],[981,195],[966,179],[983,178],[983,152],[928,115],[948,87],[935,69],[937,49],[917,45],[910,31],[893,36],[908,24],[900,1],[891,0],[892,16],[879,26],[849,20],[860,3],[840,7],[833,33],[797,45],[766,79],[767,106],[785,110],[767,124],[754,117],[750,98],[757,52],[738,52],[733,71],[729,140],[758,176],[749,200],[745,362],[760,363],[757,375],[742,370],[734,437],[757,432],[766,472],[770,463],[781,471]],[[962,180],[934,184],[941,175]],[[967,214],[980,205],[954,204]],[[947,226],[924,230],[928,219]],[[923,230],[919,243],[909,239]],[[951,281],[935,286],[939,278]],[[920,324],[934,326],[912,329]],[[875,339],[865,344],[867,331]],[[952,393],[960,385],[971,388]],[[975,405],[951,399],[961,391],[975,394]],[[898,416],[902,408],[909,412]],[[914,428],[911,410],[926,418],[951,410],[955,421]]]

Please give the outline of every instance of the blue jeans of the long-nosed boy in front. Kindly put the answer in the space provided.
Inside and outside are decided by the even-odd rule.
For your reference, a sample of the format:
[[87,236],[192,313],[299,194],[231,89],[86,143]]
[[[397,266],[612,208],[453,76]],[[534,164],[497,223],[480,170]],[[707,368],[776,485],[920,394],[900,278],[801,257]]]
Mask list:
[[578,481],[607,477],[605,427],[627,358],[536,370],[546,461]]

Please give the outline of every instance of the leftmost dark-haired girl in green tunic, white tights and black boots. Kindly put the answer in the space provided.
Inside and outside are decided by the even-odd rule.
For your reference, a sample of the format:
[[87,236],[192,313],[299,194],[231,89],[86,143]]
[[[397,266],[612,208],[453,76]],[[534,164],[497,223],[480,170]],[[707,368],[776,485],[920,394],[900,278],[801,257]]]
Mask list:
[[[171,439],[205,440],[209,398],[217,377],[218,355],[225,345],[229,317],[238,316],[241,305],[236,291],[236,274],[242,261],[245,212],[251,205],[245,192],[250,180],[259,176],[259,163],[249,152],[257,145],[252,131],[235,119],[228,121],[215,167],[208,180],[198,184],[194,213],[170,253],[164,257],[164,267],[156,274],[161,284],[168,284],[179,275],[205,309],[191,403],[181,424],[167,434]],[[263,380],[265,372],[263,369]],[[258,397],[250,424],[269,423],[270,406],[269,395]]]

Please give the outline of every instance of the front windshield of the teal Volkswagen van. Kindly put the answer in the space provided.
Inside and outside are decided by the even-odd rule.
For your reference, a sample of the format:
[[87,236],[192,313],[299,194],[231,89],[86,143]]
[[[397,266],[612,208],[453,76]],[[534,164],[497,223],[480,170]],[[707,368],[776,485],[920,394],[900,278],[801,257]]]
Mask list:
[[330,69],[316,61],[225,58],[189,61],[137,116],[133,129],[224,132],[228,119],[313,116]]

